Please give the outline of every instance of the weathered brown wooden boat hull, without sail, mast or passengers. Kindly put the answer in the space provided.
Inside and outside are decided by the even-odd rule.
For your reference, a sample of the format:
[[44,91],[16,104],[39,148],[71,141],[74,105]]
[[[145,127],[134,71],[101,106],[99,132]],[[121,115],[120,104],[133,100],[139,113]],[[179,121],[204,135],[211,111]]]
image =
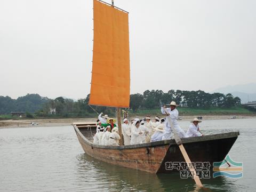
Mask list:
[[[74,123],[77,138],[87,155],[100,161],[150,173],[171,173],[165,162],[185,162],[178,145],[163,140],[129,146],[102,146],[93,143],[95,123]],[[220,162],[228,154],[239,132],[183,138],[191,162]]]

